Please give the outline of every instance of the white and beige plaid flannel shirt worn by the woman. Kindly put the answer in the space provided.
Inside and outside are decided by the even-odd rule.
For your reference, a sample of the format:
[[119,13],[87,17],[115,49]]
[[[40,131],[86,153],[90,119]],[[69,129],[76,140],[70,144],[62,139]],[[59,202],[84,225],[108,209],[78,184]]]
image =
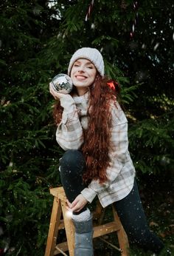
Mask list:
[[[64,149],[80,149],[83,129],[88,127],[88,92],[82,96],[65,95],[60,99],[63,115],[56,131],[56,140]],[[111,163],[106,172],[108,181],[94,180],[81,194],[91,203],[97,195],[103,207],[125,198],[133,188],[135,169],[128,151],[128,121],[118,103],[111,103]]]

